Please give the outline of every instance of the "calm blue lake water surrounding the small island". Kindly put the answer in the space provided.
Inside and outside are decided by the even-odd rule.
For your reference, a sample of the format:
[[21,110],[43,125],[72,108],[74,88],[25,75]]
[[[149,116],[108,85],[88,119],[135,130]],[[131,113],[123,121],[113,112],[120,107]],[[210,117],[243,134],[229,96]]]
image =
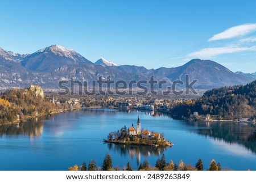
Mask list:
[[[175,145],[166,149],[122,146],[103,143],[109,132],[126,125],[164,133]],[[74,164],[96,159],[97,166],[110,153],[113,166],[127,162],[137,170],[145,159],[155,166],[162,154],[195,166],[203,160],[205,170],[210,160],[222,168],[256,170],[255,126],[237,123],[188,122],[145,112],[120,112],[114,109],[85,109],[55,115],[48,120],[23,122],[0,128],[0,170],[68,170]]]

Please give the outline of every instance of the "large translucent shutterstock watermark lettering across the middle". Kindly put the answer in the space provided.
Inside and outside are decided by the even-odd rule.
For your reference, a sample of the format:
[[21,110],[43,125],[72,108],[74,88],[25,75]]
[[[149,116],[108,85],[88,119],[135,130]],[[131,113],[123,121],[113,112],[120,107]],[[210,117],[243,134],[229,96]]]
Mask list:
[[102,76],[96,80],[80,81],[70,76],[69,81],[60,81],[58,83],[61,91],[59,95],[197,95],[193,88],[197,80],[189,81],[189,75],[185,75],[184,81],[175,80],[167,82],[166,80],[156,80],[152,75],[148,80],[124,80],[114,81],[108,76],[104,79]]

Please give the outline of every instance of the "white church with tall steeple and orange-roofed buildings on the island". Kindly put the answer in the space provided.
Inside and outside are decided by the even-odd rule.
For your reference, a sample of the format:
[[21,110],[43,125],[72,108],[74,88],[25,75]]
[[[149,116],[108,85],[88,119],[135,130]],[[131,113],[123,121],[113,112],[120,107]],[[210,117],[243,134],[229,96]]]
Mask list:
[[131,125],[131,128],[128,129],[129,131],[129,136],[141,136],[142,139],[160,139],[160,133],[151,133],[148,130],[143,130],[141,129],[141,120],[138,117],[137,121],[137,127],[136,129],[134,128],[134,125]]

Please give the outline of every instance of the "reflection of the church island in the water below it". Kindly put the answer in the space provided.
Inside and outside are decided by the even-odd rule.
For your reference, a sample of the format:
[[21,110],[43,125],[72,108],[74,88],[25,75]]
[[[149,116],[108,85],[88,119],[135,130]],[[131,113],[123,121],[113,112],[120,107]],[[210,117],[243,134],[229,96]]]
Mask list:
[[106,143],[106,145],[108,145],[109,150],[113,150],[120,155],[129,155],[131,159],[135,157],[137,159],[137,165],[141,163],[141,155],[144,157],[150,155],[159,156],[167,149],[167,147],[121,145],[114,143]]

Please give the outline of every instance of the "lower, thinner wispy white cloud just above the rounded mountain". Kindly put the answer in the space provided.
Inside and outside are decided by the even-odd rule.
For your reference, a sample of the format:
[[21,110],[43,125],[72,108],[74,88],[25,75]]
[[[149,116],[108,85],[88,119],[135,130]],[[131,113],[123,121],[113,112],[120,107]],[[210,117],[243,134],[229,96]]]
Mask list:
[[205,49],[201,49],[199,51],[188,54],[188,57],[204,59],[204,58],[211,58],[214,56],[218,56],[220,54],[236,53],[236,52],[242,52],[246,50],[256,50],[256,46],[251,46],[251,47],[223,46],[223,47],[217,47],[217,48],[205,48]]

